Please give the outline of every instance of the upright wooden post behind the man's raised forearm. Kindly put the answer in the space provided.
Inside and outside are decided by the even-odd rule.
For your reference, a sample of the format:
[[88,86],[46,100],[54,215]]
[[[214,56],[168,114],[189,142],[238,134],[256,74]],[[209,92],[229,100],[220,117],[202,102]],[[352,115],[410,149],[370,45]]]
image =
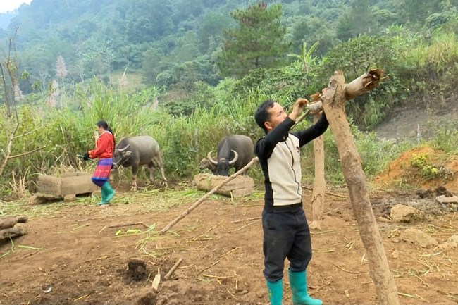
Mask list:
[[[314,113],[314,123],[320,118],[318,112]],[[315,179],[314,190],[311,195],[311,229],[321,230],[320,220],[323,219],[324,193],[326,180],[324,178],[324,139],[321,135],[314,139]]]

